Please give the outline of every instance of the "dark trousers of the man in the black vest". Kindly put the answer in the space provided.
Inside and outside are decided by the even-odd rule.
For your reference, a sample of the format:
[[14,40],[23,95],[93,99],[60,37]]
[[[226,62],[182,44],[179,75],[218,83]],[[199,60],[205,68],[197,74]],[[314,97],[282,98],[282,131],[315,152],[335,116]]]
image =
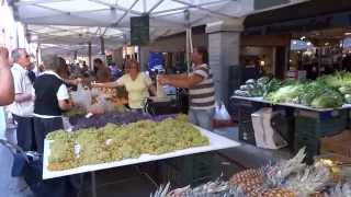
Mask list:
[[37,152],[44,152],[44,139],[47,134],[64,129],[63,118],[39,118],[34,117],[34,130],[35,130],[35,139],[37,146]]

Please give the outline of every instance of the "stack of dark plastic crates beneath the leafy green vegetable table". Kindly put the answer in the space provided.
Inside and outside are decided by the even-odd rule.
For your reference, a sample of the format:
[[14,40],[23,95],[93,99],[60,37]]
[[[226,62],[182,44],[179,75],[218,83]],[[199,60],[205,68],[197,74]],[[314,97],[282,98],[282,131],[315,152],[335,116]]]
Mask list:
[[348,112],[295,112],[295,151],[306,147],[306,162],[319,154],[320,138],[333,136],[344,130],[348,125]]

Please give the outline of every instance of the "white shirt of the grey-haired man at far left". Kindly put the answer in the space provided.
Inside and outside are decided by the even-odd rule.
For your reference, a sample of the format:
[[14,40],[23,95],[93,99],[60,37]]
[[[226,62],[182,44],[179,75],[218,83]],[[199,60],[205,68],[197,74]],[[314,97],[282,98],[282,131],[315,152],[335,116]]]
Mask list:
[[[11,68],[13,77],[14,94],[33,95],[33,85],[27,77],[27,70],[18,63],[13,63]],[[34,112],[34,100],[25,102],[13,102],[8,106],[9,112],[22,117],[32,117]]]

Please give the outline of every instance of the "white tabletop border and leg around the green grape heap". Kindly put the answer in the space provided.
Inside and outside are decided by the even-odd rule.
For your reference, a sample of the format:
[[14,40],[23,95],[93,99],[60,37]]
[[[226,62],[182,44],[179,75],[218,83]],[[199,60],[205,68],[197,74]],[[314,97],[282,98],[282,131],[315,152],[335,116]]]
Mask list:
[[158,161],[158,160],[183,157],[183,155],[189,155],[189,154],[216,151],[216,150],[228,149],[228,148],[234,148],[234,147],[240,146],[239,142],[236,142],[236,141],[233,141],[233,140],[227,139],[225,137],[218,136],[214,132],[202,129],[200,127],[196,127],[196,128],[201,131],[202,135],[204,135],[208,138],[208,140],[210,140],[208,146],[178,150],[178,151],[173,151],[173,152],[169,152],[169,153],[165,153],[165,154],[159,154],[159,155],[141,154],[137,159],[126,159],[126,160],[116,161],[116,162],[83,165],[83,166],[64,170],[64,171],[49,171],[47,169],[48,157],[50,154],[50,149],[49,149],[50,141],[45,140],[44,155],[43,155],[43,179],[91,172],[92,173],[91,174],[92,175],[92,190],[93,190],[93,196],[95,196],[95,181],[94,181],[95,179],[94,178],[95,171],[126,166],[126,165],[135,165],[135,164],[140,164],[140,163],[150,162],[150,161]]

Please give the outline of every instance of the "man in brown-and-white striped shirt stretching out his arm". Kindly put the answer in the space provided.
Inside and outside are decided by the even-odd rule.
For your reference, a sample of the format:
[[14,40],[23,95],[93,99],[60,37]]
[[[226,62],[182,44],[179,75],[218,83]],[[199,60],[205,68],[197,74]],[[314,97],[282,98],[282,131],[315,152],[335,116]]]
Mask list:
[[213,74],[206,65],[208,59],[205,47],[194,48],[191,60],[194,65],[190,74],[159,76],[160,84],[189,89],[189,119],[194,125],[212,130],[212,118],[215,114],[215,89]]

